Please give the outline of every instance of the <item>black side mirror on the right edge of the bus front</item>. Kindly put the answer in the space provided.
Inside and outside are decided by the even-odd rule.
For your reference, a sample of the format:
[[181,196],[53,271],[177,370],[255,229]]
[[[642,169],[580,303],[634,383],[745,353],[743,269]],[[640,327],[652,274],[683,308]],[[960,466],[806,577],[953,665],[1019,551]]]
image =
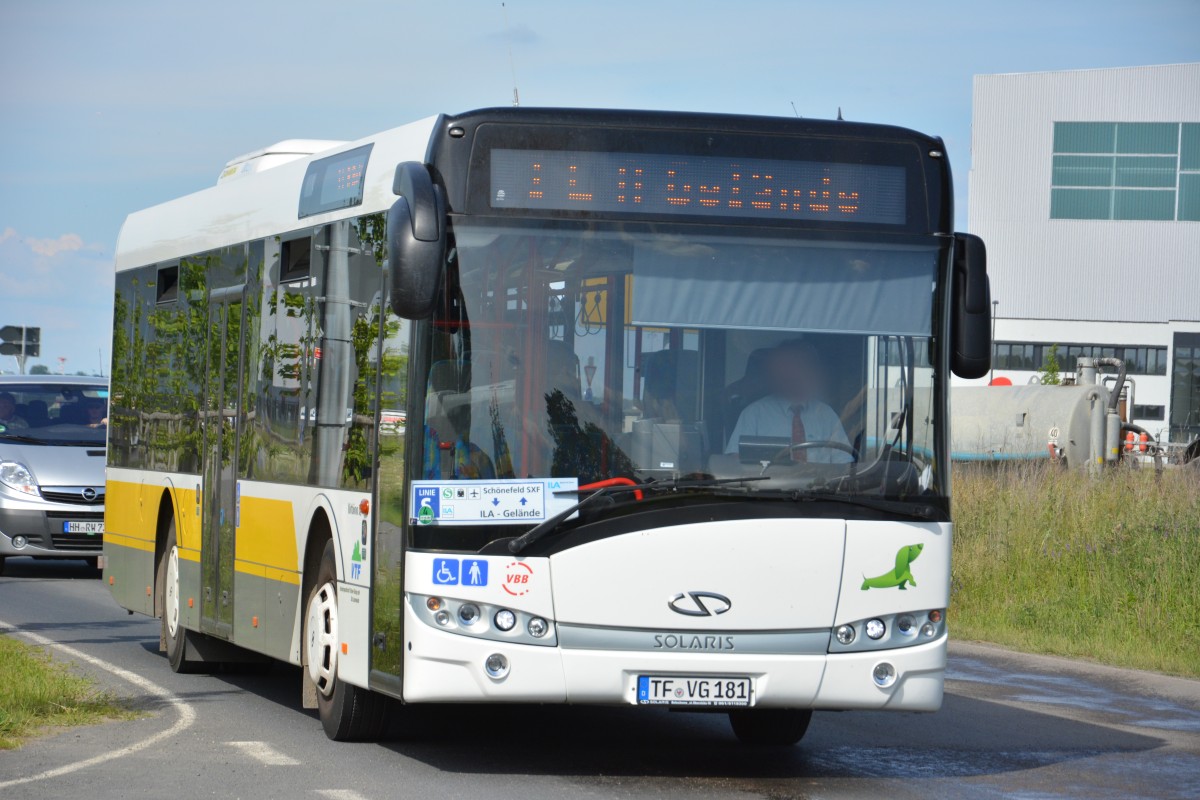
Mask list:
[[991,289],[988,249],[978,236],[954,234],[950,293],[950,371],[983,378],[991,368]]

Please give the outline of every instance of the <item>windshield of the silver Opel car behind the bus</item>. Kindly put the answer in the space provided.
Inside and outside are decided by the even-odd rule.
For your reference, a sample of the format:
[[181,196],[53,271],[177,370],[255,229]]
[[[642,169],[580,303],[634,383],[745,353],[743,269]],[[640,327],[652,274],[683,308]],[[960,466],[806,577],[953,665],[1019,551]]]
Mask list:
[[103,445],[107,427],[102,383],[0,383],[0,440]]

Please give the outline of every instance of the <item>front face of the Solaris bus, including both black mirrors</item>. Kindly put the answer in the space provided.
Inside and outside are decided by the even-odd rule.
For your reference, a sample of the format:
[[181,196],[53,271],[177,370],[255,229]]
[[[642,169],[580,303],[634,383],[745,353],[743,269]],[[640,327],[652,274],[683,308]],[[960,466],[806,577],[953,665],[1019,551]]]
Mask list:
[[719,709],[752,742],[940,706],[948,381],[990,349],[940,140],[490,110],[443,118],[395,191],[418,321],[373,676]]

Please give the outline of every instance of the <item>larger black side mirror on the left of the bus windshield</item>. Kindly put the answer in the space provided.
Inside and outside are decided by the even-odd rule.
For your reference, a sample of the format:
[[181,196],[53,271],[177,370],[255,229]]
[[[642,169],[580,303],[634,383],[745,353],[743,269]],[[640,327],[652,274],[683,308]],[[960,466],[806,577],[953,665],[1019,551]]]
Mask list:
[[398,199],[388,211],[388,269],[391,309],[403,319],[433,313],[442,287],[446,246],[446,207],[425,164],[396,167],[391,191]]

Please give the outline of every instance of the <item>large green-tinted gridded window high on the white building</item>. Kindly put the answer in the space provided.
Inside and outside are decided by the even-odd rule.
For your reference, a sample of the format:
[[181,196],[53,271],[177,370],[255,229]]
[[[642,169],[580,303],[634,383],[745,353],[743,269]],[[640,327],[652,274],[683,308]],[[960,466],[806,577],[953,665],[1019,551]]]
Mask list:
[[1051,219],[1200,221],[1200,122],[1055,122]]

